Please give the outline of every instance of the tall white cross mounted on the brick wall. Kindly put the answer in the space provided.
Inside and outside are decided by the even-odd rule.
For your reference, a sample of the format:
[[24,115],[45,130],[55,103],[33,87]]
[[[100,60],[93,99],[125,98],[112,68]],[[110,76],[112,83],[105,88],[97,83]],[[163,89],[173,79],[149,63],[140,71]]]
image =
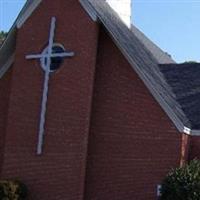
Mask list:
[[44,127],[45,127],[45,116],[46,116],[46,107],[47,107],[47,98],[48,98],[47,96],[48,96],[49,74],[51,72],[50,71],[51,58],[74,56],[74,52],[63,52],[63,53],[53,53],[52,52],[53,40],[54,40],[54,34],[55,34],[55,25],[56,25],[56,18],[52,17],[47,52],[42,53],[42,54],[26,56],[26,59],[42,59],[42,58],[46,59],[45,69],[44,69],[45,77],[44,77],[42,105],[41,105],[41,114],[40,114],[38,145],[37,145],[37,154],[38,155],[40,155],[42,153],[42,146],[43,146],[43,140],[44,140]]

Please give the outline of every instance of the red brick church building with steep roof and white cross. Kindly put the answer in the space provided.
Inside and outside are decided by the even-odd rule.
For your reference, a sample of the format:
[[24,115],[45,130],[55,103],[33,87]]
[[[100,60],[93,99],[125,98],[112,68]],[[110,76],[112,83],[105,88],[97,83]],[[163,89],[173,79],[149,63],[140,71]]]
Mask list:
[[0,179],[29,199],[155,200],[200,156],[200,64],[177,64],[132,7],[27,0],[2,44]]

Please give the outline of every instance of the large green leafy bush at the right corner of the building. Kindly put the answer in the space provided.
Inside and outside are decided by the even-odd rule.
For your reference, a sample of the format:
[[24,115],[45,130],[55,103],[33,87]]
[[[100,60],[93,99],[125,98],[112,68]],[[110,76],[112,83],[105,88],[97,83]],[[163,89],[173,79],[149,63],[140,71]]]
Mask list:
[[173,169],[163,181],[161,200],[200,200],[200,161]]

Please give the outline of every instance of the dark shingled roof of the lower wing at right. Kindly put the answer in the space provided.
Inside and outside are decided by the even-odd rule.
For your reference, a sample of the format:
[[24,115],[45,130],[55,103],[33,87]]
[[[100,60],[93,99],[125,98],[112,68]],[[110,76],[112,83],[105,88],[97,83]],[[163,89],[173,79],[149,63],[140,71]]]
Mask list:
[[160,70],[188,119],[182,118],[185,126],[200,129],[200,63],[162,64]]

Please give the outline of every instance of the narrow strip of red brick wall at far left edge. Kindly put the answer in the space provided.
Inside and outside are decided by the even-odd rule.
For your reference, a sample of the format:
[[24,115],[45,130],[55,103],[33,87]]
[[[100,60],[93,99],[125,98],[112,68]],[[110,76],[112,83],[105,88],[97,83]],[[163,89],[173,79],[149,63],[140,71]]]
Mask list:
[[12,70],[9,70],[0,79],[0,177],[1,177],[1,168],[3,164],[3,153],[4,153],[6,122],[8,114],[8,102],[10,95],[11,75],[12,75]]

